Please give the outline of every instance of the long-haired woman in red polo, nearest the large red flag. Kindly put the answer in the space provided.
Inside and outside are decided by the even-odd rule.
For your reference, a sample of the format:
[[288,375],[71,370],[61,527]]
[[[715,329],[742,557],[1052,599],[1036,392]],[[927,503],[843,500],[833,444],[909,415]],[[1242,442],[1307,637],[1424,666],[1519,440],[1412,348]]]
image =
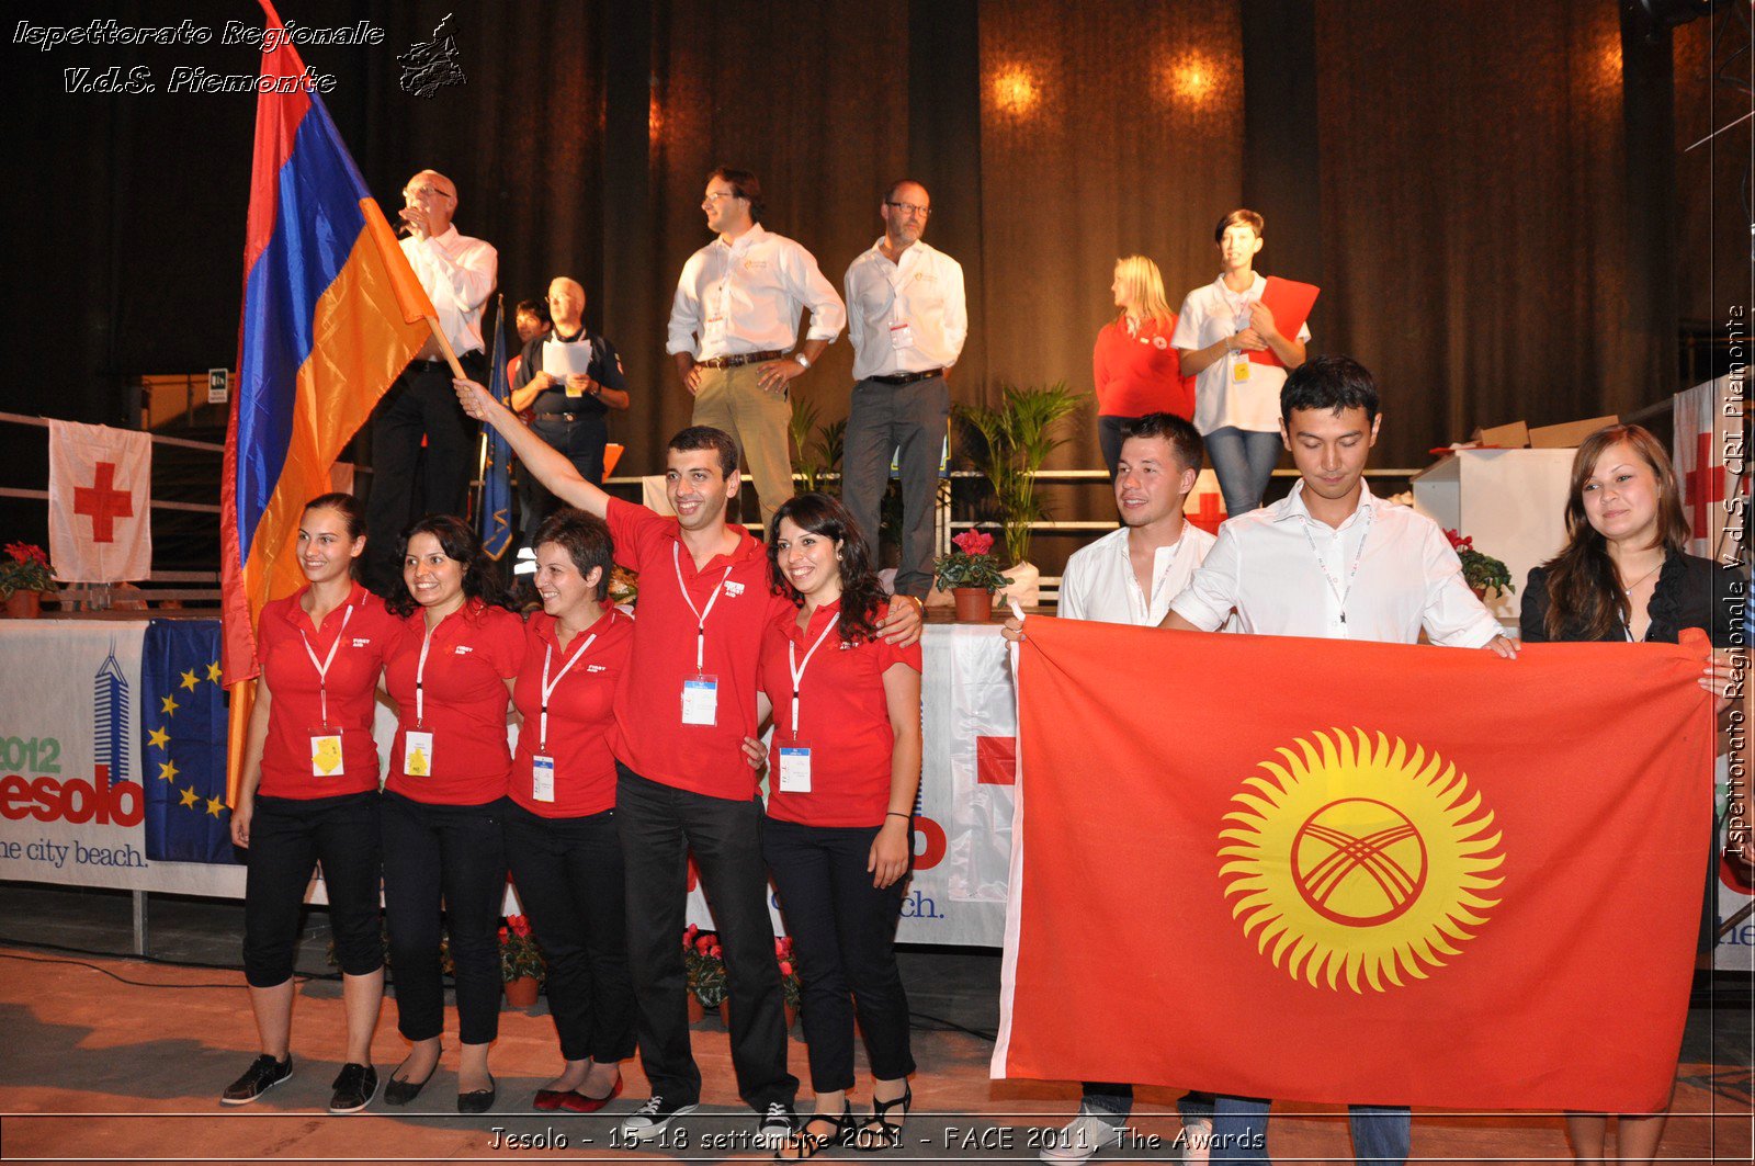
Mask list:
[[[804,982],[804,1036],[816,1113],[776,1155],[813,1157],[855,1143],[899,1145],[913,1103],[907,996],[895,925],[913,859],[920,787],[920,646],[874,634],[886,601],[846,507],[800,493],[769,532],[776,594],[793,602],[769,623],[758,667],[758,720],[774,716],[762,852]],[[849,997],[851,992],[851,997]],[[858,1127],[853,1017],[872,1068],[872,1119]]]

